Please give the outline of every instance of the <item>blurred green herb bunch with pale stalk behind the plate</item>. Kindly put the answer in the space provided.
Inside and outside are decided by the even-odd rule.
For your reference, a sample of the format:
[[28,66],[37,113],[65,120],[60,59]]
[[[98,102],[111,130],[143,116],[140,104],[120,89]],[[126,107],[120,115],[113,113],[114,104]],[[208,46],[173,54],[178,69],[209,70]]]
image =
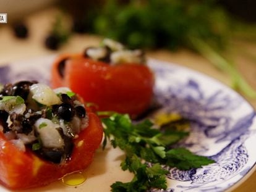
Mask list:
[[98,0],[97,5],[82,12],[82,17],[77,12],[75,17],[82,18],[86,32],[113,38],[132,49],[192,49],[227,73],[234,89],[256,98],[256,91],[236,65],[220,54],[234,34],[241,35],[236,27],[241,25],[231,19],[218,1]]

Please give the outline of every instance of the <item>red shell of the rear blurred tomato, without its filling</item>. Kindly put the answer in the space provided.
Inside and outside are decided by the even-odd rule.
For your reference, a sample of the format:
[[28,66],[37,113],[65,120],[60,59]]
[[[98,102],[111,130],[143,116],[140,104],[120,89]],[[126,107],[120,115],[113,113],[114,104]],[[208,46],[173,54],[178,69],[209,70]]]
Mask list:
[[[63,77],[59,62],[69,58]],[[53,88],[68,86],[100,111],[128,113],[136,117],[147,109],[153,95],[154,76],[147,65],[109,65],[82,56],[62,56],[52,69]]]

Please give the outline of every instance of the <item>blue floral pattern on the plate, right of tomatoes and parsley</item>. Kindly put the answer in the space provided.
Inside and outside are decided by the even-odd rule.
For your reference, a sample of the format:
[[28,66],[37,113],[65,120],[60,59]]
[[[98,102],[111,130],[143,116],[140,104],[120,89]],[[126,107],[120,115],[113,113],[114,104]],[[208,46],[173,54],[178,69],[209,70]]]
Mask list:
[[254,158],[249,167],[255,163],[245,146],[255,137],[254,109],[239,94],[202,74],[159,61],[149,64],[156,73],[156,102],[164,106],[160,110],[177,112],[192,122],[189,138],[179,145],[216,161],[189,171],[166,166],[168,178],[179,181],[167,191],[226,190],[249,171],[249,159]]

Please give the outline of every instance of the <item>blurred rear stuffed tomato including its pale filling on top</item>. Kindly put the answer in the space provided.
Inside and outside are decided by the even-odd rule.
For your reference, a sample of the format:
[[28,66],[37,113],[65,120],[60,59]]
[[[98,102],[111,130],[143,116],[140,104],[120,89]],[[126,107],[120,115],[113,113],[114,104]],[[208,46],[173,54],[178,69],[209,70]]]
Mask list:
[[64,55],[54,62],[51,85],[67,86],[100,111],[142,114],[150,106],[154,75],[141,50],[104,40],[84,54]]

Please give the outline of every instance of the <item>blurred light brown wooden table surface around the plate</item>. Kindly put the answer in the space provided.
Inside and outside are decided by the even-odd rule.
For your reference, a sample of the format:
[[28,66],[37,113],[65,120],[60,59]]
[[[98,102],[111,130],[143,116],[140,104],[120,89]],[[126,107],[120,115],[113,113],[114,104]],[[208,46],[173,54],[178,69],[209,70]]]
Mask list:
[[[49,51],[49,49],[45,48],[43,42],[46,34],[51,28],[51,23],[53,23],[56,14],[58,14],[58,10],[48,8],[28,15],[25,22],[27,22],[30,35],[25,40],[15,38],[9,25],[0,24],[0,64],[47,56],[49,54],[80,52],[87,46],[96,46],[100,43],[101,38],[99,36],[74,35],[70,38],[68,43],[64,44],[64,46],[62,46],[58,51]],[[256,56],[256,43],[234,41],[233,46],[233,51],[230,51],[228,54],[234,58],[234,61],[238,64],[238,69],[250,85],[256,90],[256,59],[254,57],[254,55]],[[247,53],[245,54],[244,51],[240,52],[239,50],[244,50]],[[231,83],[230,77],[228,77],[226,73],[220,72],[202,56],[186,49],[182,49],[178,52],[170,52],[166,50],[150,51],[147,52],[147,55],[155,59],[184,65],[190,69],[197,70],[216,78],[226,85],[230,85]],[[254,106],[254,108],[256,108],[256,99],[246,99],[252,104],[252,106]],[[244,183],[239,185],[233,191],[255,191],[256,172],[251,173],[248,177],[249,178],[247,178]]]

